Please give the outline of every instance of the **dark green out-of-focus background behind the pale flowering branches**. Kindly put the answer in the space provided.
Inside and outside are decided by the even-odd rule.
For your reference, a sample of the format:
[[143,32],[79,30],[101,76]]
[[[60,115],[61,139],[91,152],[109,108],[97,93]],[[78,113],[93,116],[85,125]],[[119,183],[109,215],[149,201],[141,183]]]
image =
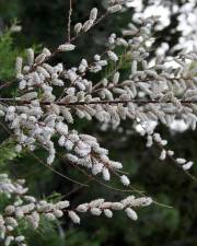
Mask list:
[[[151,1],[144,1],[144,7]],[[182,5],[184,1],[166,1],[166,4],[176,2]],[[163,1],[165,3],[165,1]],[[85,21],[93,7],[105,11],[105,2],[102,0],[76,0],[72,23]],[[46,46],[55,48],[67,36],[69,1],[68,0],[0,0],[0,83],[13,78],[14,60],[19,54],[30,46],[37,50]],[[78,51],[71,56],[57,57],[55,61],[65,61],[70,66],[79,62],[81,58],[91,58],[95,52],[104,48],[108,34],[119,32],[131,20],[132,10],[113,16],[101,23],[96,30],[92,30],[86,36],[78,40]],[[179,32],[172,35],[172,30],[177,25],[177,15],[172,14],[171,24],[155,34],[155,46],[162,42],[169,42],[173,47],[181,36]],[[14,20],[19,20],[22,32],[10,34],[7,28]],[[115,24],[114,24],[115,23]],[[15,93],[14,87],[4,90],[1,95]],[[111,150],[111,156],[121,161],[125,171],[130,173],[131,184],[158,201],[173,206],[167,209],[159,206],[139,211],[139,220],[130,221],[123,212],[114,214],[112,220],[104,216],[82,218],[80,226],[73,225],[67,218],[60,224],[49,224],[43,221],[40,231],[27,233],[31,246],[196,246],[197,245],[197,183],[178,169],[170,161],[161,163],[158,159],[160,150],[147,149],[142,137],[132,130],[130,121],[123,125],[127,132],[103,132],[95,124],[80,120],[76,125],[79,131],[91,132],[96,136],[103,147]],[[170,147],[178,156],[194,160],[197,164],[197,133],[185,131],[182,134],[170,132],[164,127],[159,131],[163,138],[170,140]],[[127,137],[126,137],[127,136]],[[9,168],[13,177],[24,177],[32,194],[43,198],[58,199],[57,194],[67,195],[77,188],[59,175],[43,166],[28,153],[20,156],[14,153],[11,142],[4,142],[8,138],[4,129],[0,129],[0,171]],[[61,150],[59,150],[61,152]],[[36,156],[44,160],[42,150],[35,152]],[[61,153],[63,154],[63,152]],[[55,167],[58,172],[74,179],[85,181],[88,177],[68,166],[63,159],[57,159]],[[193,175],[197,176],[197,167],[194,165]],[[118,187],[118,181],[113,185]],[[127,194],[106,189],[96,183],[91,183],[91,188],[83,188],[67,196],[73,204],[84,202],[96,197],[107,200],[118,200]],[[2,206],[3,201],[0,201]]]

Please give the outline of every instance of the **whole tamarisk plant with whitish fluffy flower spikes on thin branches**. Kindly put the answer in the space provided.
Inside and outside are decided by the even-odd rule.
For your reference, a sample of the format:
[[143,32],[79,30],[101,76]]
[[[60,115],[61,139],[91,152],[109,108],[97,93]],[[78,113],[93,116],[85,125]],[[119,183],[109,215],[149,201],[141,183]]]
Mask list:
[[[58,156],[54,140],[57,136],[59,147],[65,149],[65,156],[72,165],[88,168],[92,175],[102,174],[106,181],[116,175],[124,186],[129,187],[129,177],[119,172],[123,164],[111,160],[108,150],[101,147],[95,137],[78,132],[72,127],[73,122],[79,118],[94,119],[105,129],[117,129],[121,121],[130,119],[143,128],[148,148],[155,143],[161,149],[160,160],[170,156],[187,172],[193,162],[174,157],[174,152],[166,148],[167,141],[150,125],[155,122],[170,127],[174,119],[183,119],[188,127],[196,129],[197,71],[192,63],[197,60],[197,52],[182,51],[174,57],[176,68],[171,66],[172,59],[167,57],[155,57],[150,63],[153,26],[159,21],[158,16],[152,16],[128,23],[123,35],[111,34],[106,50],[95,54],[91,61],[83,58],[69,69],[62,63],[50,63],[57,54],[76,51],[74,43],[82,34],[109,14],[121,11],[125,4],[123,0],[109,1],[106,13],[101,17],[97,9],[92,9],[88,21],[74,25],[73,36],[70,4],[68,40],[54,51],[44,48],[39,55],[28,48],[26,62],[18,57],[19,94],[0,98],[0,115],[11,131],[18,152],[23,149],[33,152],[39,145],[47,150],[46,162],[53,165]],[[121,59],[129,67],[127,75],[121,74]],[[109,67],[113,69],[104,75],[103,71]],[[100,74],[101,79],[90,80],[90,73]],[[0,89],[10,86],[12,82],[5,82]],[[119,202],[96,199],[70,209],[67,200],[51,203],[27,196],[27,188],[23,185],[24,180],[12,181],[5,174],[0,175],[0,192],[11,201],[0,216],[0,232],[5,246],[13,242],[25,246],[25,237],[16,234],[15,230],[21,221],[37,229],[42,215],[53,221],[66,213],[73,223],[80,223],[80,213],[90,211],[93,215],[104,213],[112,218],[113,210],[124,210],[130,219],[137,220],[135,209],[152,203],[149,197],[129,196]]]

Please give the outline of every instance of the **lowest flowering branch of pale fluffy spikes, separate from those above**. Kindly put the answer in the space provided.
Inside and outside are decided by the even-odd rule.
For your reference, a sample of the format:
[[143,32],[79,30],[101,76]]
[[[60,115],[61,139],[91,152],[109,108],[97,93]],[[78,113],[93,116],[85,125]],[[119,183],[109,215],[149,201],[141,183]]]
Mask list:
[[138,215],[135,210],[152,203],[152,199],[149,197],[135,198],[135,196],[129,196],[119,202],[96,199],[72,209],[68,200],[54,203],[28,196],[26,194],[28,189],[24,187],[24,183],[23,179],[12,181],[7,174],[0,175],[0,194],[7,196],[10,200],[4,208],[3,214],[0,214],[0,238],[3,241],[4,246],[9,246],[11,243],[19,246],[26,245],[25,236],[19,235],[18,232],[18,227],[22,222],[36,230],[39,226],[40,218],[55,221],[68,215],[73,223],[79,224],[80,213],[90,212],[96,216],[103,213],[105,216],[112,218],[113,211],[116,210],[124,210],[128,218],[136,221]]

